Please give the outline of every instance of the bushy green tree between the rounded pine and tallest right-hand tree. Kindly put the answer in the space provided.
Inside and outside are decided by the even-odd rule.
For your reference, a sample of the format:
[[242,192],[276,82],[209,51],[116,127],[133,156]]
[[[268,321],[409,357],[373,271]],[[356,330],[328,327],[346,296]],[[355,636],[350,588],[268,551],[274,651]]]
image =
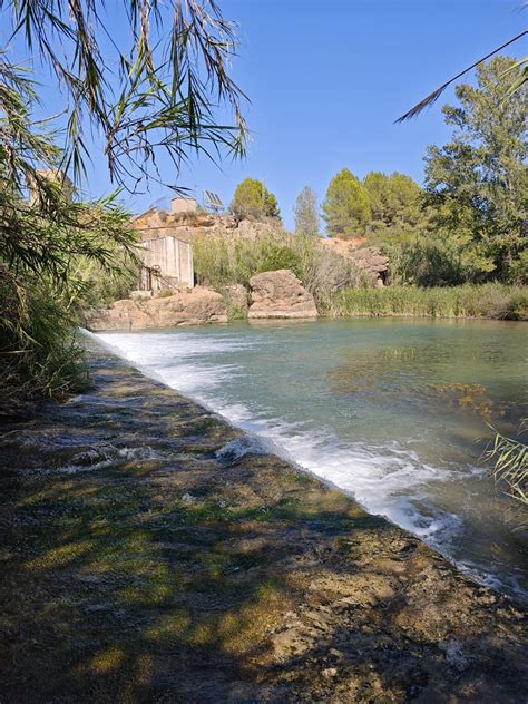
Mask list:
[[422,189],[414,179],[394,172],[371,172],[364,178],[372,211],[371,226],[415,226],[421,217]]

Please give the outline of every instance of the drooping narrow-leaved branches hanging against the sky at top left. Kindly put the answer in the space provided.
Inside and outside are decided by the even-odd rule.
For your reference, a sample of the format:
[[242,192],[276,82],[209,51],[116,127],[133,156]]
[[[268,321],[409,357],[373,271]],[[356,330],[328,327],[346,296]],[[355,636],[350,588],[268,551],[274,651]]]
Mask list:
[[[14,39],[63,90],[62,168],[82,175],[94,150],[89,133],[102,138],[113,180],[130,189],[147,178],[167,182],[160,153],[172,162],[173,186],[193,151],[239,155],[244,94],[228,72],[235,27],[216,1],[121,0],[108,12],[97,0],[0,0],[2,28],[11,23]],[[0,77],[3,70],[0,63]],[[231,109],[232,125],[215,119],[221,105]]]

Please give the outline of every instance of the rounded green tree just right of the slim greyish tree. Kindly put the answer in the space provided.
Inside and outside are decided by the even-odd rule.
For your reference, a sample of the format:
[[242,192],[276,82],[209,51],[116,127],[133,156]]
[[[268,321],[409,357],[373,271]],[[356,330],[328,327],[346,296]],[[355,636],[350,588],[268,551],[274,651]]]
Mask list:
[[348,168],[343,168],[330,182],[322,207],[331,237],[348,239],[362,235],[371,218],[369,195],[360,179]]

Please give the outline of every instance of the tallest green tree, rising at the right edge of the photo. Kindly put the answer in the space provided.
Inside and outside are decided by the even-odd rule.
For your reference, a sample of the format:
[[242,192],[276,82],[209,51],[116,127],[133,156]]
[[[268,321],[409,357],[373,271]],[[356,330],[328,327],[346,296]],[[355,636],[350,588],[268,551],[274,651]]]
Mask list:
[[503,99],[509,91],[503,75],[514,65],[498,57],[479,66],[476,87],[457,87],[459,106],[443,108],[452,140],[430,147],[426,157],[434,226],[469,231],[467,251],[480,262],[482,278],[519,278],[526,247],[526,87]]

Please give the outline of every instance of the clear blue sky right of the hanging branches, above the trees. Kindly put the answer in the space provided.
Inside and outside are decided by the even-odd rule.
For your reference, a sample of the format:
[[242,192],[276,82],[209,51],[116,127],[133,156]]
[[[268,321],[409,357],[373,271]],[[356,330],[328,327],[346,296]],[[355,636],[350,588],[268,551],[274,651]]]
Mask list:
[[[218,2],[239,23],[233,75],[251,98],[252,141],[245,160],[227,160],[223,170],[195,159],[179,185],[196,189],[199,201],[207,188],[228,204],[243,178],[261,178],[277,196],[287,227],[303,186],[322,201],[344,166],[360,177],[399,170],[420,182],[427,146],[449,137],[440,108],[452,90],[418,119],[393,120],[521,31],[526,20],[522,0]],[[517,43],[508,53],[526,51]],[[110,189],[105,162],[95,156],[87,190],[98,196]],[[153,184],[150,193],[123,199],[141,212],[168,195]]]

